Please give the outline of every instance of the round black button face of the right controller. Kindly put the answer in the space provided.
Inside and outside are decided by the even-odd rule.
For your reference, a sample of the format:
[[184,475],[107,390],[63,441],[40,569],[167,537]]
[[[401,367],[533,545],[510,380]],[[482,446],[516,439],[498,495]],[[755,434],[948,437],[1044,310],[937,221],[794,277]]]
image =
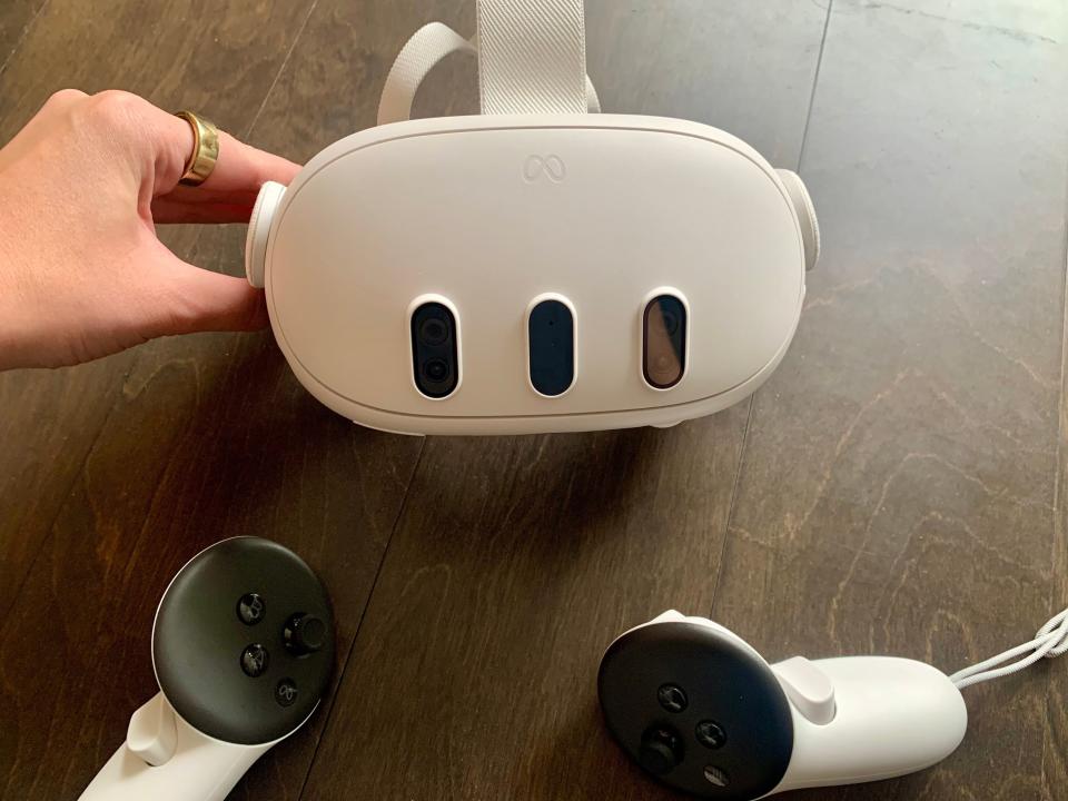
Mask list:
[[793,753],[790,702],[751,649],[690,621],[639,626],[597,676],[612,735],[661,782],[748,801],[773,790]]

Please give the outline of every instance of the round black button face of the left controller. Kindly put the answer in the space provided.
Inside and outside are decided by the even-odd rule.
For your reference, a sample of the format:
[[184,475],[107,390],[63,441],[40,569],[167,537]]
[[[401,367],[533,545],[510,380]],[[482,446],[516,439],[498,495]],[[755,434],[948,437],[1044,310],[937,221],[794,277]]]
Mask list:
[[[250,615],[253,595],[261,605]],[[295,641],[300,619],[315,624],[314,642]],[[334,666],[329,596],[281,545],[225,540],[195,556],[167,587],[152,630],[152,664],[164,695],[198,731],[244,745],[274,742],[297,729],[326,692]]]

